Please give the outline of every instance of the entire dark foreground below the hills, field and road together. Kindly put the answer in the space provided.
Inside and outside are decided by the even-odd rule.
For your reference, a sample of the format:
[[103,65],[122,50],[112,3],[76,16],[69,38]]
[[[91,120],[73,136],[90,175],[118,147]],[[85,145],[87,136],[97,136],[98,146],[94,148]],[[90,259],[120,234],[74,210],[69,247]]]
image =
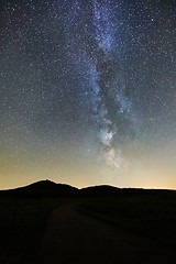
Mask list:
[[0,264],[176,263],[176,191],[94,191],[1,197]]

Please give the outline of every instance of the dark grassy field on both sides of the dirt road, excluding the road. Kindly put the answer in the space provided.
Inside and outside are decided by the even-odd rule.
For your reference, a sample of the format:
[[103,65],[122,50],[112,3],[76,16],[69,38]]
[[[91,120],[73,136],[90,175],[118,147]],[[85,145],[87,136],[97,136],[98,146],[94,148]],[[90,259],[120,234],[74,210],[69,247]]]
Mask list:
[[0,263],[34,263],[51,212],[63,205],[175,251],[176,197],[0,199]]

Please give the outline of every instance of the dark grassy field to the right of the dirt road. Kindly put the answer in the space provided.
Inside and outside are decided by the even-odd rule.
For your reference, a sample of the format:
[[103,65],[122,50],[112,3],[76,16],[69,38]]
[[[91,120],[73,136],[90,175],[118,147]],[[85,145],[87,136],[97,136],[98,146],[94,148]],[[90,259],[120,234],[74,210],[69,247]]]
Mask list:
[[111,197],[87,201],[78,210],[163,246],[176,246],[175,197]]

